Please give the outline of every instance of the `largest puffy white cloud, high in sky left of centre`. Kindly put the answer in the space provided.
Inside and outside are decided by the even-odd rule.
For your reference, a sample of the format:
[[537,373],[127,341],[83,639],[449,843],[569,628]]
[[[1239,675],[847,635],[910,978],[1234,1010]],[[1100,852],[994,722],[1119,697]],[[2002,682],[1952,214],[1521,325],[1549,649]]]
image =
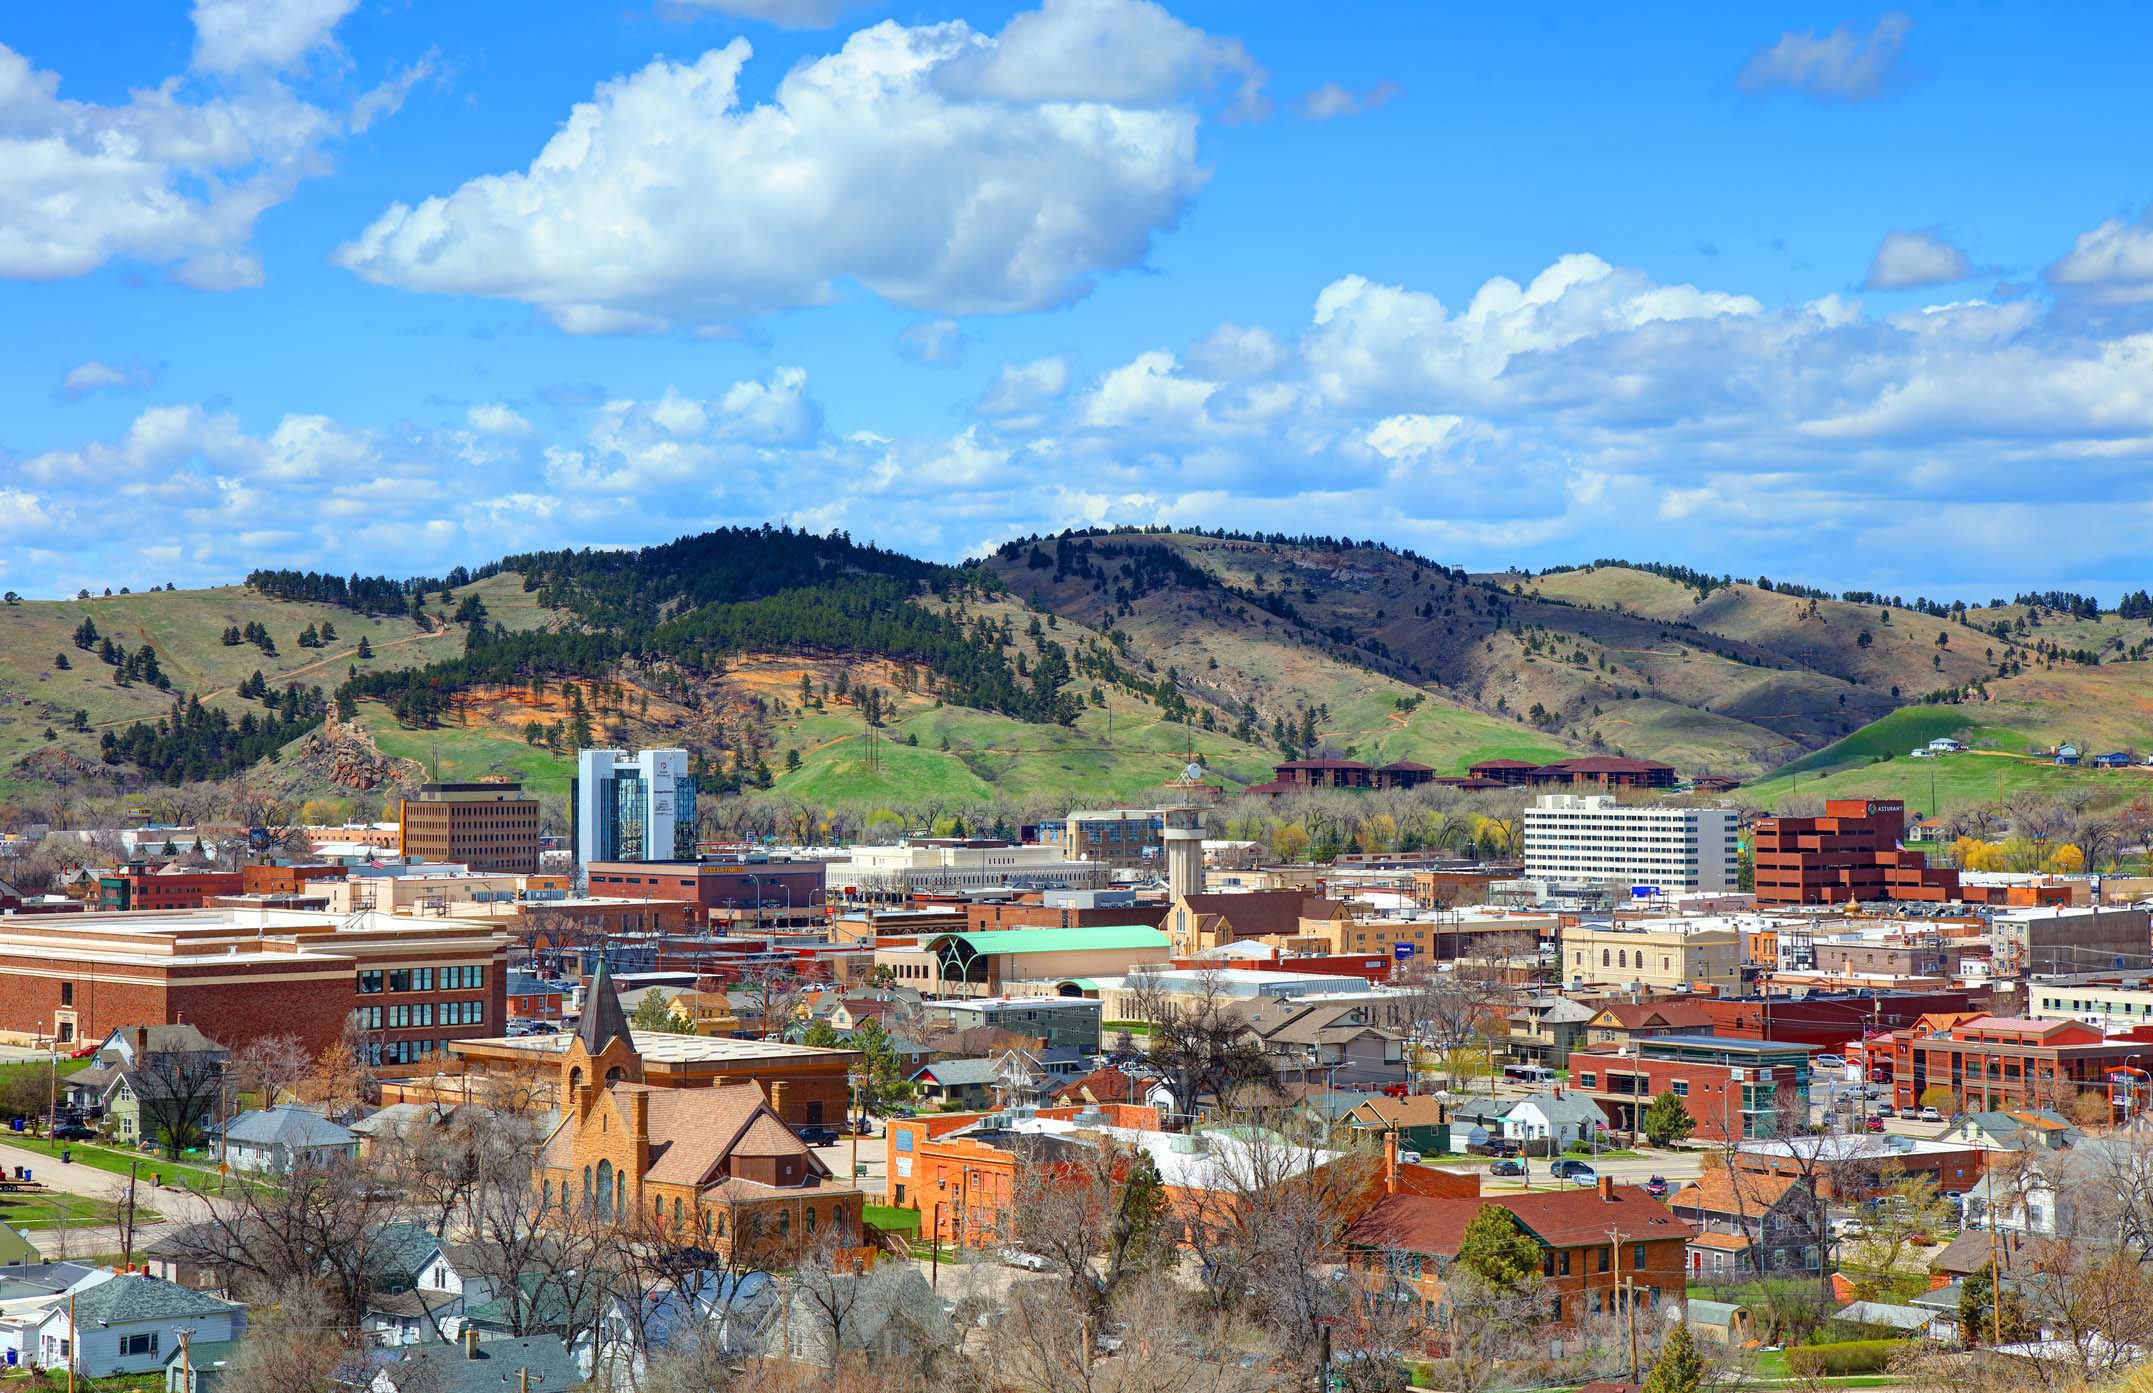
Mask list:
[[[1148,50],[1160,22],[1186,28],[1154,11],[1072,0],[999,39],[885,22],[758,105],[745,39],[657,60],[577,103],[525,170],[394,205],[336,261],[581,334],[706,327],[842,282],[937,314],[1066,304],[1139,263],[1204,183],[1197,112],[1171,93],[1225,58]],[[1057,67],[1042,43],[1064,28],[1111,45]]]

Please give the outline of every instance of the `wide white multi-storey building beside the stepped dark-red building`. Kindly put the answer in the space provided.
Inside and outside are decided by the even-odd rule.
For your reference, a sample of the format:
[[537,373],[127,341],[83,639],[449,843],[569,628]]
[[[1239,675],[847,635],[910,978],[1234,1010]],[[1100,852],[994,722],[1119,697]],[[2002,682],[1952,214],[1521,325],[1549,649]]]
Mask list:
[[1606,794],[1546,794],[1524,810],[1524,876],[1634,891],[1729,891],[1740,874],[1725,807],[1623,805]]

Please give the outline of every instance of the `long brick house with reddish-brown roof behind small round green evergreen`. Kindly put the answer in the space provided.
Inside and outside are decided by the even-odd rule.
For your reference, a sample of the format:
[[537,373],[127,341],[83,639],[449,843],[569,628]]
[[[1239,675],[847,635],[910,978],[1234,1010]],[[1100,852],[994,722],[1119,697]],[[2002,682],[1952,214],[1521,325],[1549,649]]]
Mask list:
[[1505,1210],[1539,1244],[1548,1318],[1576,1324],[1632,1309],[1654,1313],[1686,1294],[1684,1249],[1697,1232],[1645,1191],[1602,1180],[1589,1191],[1520,1191],[1479,1197],[1382,1195],[1346,1232],[1348,1268],[1378,1296],[1417,1300],[1443,1324],[1443,1283],[1466,1225],[1488,1206]]

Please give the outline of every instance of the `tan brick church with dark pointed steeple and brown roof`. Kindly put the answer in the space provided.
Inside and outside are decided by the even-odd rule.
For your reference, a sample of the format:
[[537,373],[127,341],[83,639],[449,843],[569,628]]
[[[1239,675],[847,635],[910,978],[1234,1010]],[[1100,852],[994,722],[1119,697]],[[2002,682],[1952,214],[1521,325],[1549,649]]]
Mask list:
[[590,1206],[728,1260],[741,1244],[758,1257],[859,1247],[861,1193],[835,1180],[758,1085],[644,1083],[603,962],[560,1070],[562,1124],[538,1158],[545,1208]]

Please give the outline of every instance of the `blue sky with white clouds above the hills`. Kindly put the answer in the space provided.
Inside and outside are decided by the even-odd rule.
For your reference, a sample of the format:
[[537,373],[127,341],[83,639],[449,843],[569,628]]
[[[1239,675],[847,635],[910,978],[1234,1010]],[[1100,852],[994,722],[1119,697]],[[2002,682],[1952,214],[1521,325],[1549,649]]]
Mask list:
[[2153,15],[0,17],[0,586],[792,521],[2144,583]]

